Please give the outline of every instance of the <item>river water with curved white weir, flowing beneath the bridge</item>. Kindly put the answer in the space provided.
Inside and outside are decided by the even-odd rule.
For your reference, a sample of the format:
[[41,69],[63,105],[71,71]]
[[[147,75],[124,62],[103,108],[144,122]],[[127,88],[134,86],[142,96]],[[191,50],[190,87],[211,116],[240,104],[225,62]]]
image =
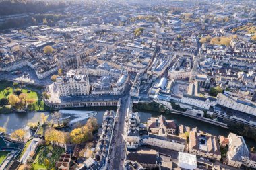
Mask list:
[[[116,108],[81,108],[75,110],[60,110],[63,118],[69,118],[73,124],[79,122],[79,124],[85,124],[87,119],[90,116],[94,116],[98,120],[98,124],[102,123],[103,114],[106,110],[116,110]],[[97,112],[94,115],[94,112]],[[40,120],[41,113],[45,115],[49,115],[49,120],[51,120],[52,112],[26,112],[26,113],[10,113],[10,114],[0,114],[0,126],[3,126],[7,129],[7,133],[10,134],[14,130],[19,128],[28,129],[28,122],[38,122]],[[139,112],[141,115],[141,122],[147,122],[147,119],[151,116],[156,117],[159,116],[159,113],[156,112]],[[166,115],[167,120],[174,120],[177,124],[183,124],[185,126],[189,126],[191,128],[197,127],[199,130],[204,132],[208,132],[215,136],[222,135],[228,136],[230,130],[226,128],[221,128],[220,126],[215,126],[213,124],[208,124],[206,122],[202,122],[200,120],[195,120],[193,118],[189,118],[187,116],[183,116],[180,114],[169,114]],[[249,148],[255,146],[256,142],[245,138],[245,142]]]

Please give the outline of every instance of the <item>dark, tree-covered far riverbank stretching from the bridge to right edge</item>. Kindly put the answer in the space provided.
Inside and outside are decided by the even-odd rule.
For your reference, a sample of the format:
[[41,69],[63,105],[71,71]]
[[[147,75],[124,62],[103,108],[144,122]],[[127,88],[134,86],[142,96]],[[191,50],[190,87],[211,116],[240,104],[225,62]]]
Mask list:
[[[156,103],[154,101],[148,102],[148,103],[133,103],[133,112],[149,112],[149,113],[154,113],[155,115],[156,115],[156,113],[158,113],[158,116],[160,114],[162,114],[164,116],[169,116],[169,117],[170,117],[170,115],[173,115],[173,114],[180,114],[180,115],[186,116],[188,118],[193,118],[193,120],[199,120],[200,122],[205,122],[207,124],[210,123],[210,122],[208,122],[208,121],[210,121],[210,119],[196,118],[195,116],[190,116],[188,114],[182,114],[181,112],[172,112],[168,108],[164,107],[164,105]],[[219,126],[219,125],[217,125],[217,123],[215,124],[215,122],[211,123],[211,124],[213,124],[214,126]],[[241,124],[234,124],[233,122],[227,122],[226,127],[225,126],[220,126],[220,127],[228,129],[228,131],[230,131],[230,132],[234,132],[236,134],[239,134],[241,136],[245,136],[246,138],[249,138],[251,140],[251,143],[255,143],[255,141],[256,141],[256,130],[251,127],[247,127],[247,126],[241,125]],[[253,144],[253,146],[254,145],[255,144]]]

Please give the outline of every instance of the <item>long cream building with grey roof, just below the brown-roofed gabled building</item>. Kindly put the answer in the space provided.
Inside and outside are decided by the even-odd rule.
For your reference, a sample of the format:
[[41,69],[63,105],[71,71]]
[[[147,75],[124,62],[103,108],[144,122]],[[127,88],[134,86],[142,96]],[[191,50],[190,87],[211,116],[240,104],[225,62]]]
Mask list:
[[174,151],[184,151],[186,141],[184,138],[172,134],[160,136],[158,134],[150,133],[142,136],[142,143]]

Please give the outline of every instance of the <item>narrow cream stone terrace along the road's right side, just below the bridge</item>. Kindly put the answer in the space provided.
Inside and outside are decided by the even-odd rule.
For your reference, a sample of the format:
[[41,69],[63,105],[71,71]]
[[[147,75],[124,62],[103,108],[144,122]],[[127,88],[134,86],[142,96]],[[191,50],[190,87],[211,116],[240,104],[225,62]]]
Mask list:
[[140,117],[139,113],[131,113],[129,114],[128,120],[128,130],[125,134],[125,142],[126,146],[129,149],[137,149],[139,147],[140,136],[139,136],[139,125],[140,125]]

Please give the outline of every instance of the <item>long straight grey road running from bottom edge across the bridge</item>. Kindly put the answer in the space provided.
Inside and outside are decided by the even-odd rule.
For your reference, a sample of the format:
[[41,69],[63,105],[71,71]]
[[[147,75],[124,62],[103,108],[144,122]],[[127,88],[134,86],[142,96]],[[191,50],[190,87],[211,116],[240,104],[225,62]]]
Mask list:
[[113,136],[113,150],[110,154],[110,164],[108,169],[121,170],[123,169],[123,161],[125,159],[125,140],[122,134],[124,134],[125,116],[127,114],[127,108],[129,107],[129,95],[123,97],[121,101],[121,108],[119,112],[119,120],[115,128]]

